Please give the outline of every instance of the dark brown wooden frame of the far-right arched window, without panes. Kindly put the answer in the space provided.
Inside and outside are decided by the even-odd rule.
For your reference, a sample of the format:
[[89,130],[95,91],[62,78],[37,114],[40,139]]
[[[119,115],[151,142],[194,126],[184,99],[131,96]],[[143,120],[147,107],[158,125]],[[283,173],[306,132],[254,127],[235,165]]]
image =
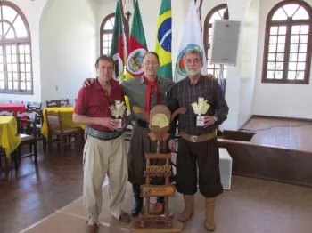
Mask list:
[[[272,20],[275,12],[278,9],[283,7],[286,4],[298,4],[303,7],[308,12],[308,20],[291,20],[288,18],[287,20]],[[308,43],[307,43],[307,58],[305,62],[305,74],[303,80],[291,80],[287,79],[288,63],[289,55],[290,55],[290,47],[291,47],[291,26],[295,25],[302,25],[302,24],[309,25],[308,31]],[[286,40],[285,40],[285,48],[284,48],[284,59],[283,59],[283,76],[282,79],[268,79],[267,78],[267,62],[268,62],[268,49],[269,49],[269,37],[270,37],[270,28],[274,26],[286,26]],[[264,44],[264,52],[263,52],[263,65],[262,65],[262,77],[261,83],[268,83],[268,84],[309,84],[310,79],[310,68],[311,68],[311,39],[312,39],[312,8],[309,4],[300,1],[300,0],[284,0],[271,9],[271,11],[267,14],[266,20],[266,32],[265,32],[265,44]],[[276,53],[276,52],[275,52]],[[298,60],[297,60],[298,62]],[[275,69],[276,70],[276,69]],[[297,71],[297,70],[296,70]]]

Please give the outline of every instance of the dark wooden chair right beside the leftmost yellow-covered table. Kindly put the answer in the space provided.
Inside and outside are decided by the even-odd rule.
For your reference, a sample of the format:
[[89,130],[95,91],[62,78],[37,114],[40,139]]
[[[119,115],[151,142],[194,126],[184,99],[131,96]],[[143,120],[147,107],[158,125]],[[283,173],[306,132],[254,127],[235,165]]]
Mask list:
[[[21,144],[17,149],[18,160],[15,161],[15,169],[19,168],[20,160],[23,157],[34,156],[35,164],[37,165],[36,116],[28,112],[18,112],[17,123],[18,137],[21,139]],[[21,155],[21,146],[23,145],[29,145],[29,154]]]

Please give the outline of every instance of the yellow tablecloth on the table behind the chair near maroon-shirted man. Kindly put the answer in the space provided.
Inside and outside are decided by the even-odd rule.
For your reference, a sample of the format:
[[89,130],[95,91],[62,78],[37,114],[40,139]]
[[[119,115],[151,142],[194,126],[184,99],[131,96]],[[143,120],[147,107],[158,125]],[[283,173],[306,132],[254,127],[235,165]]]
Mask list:
[[85,129],[84,125],[78,125],[77,123],[73,122],[72,120],[72,114],[74,112],[74,107],[55,107],[55,108],[45,108],[43,111],[44,115],[44,124],[42,125],[41,128],[41,134],[47,138],[48,136],[48,129],[47,129],[47,124],[46,124],[46,119],[45,119],[45,111],[55,111],[55,112],[61,112],[61,121],[62,121],[62,127],[63,128],[82,128]]

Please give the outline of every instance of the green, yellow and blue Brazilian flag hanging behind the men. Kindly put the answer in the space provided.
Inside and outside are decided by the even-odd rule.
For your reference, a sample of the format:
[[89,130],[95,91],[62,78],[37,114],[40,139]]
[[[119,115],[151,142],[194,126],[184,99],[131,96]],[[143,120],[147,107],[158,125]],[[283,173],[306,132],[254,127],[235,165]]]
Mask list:
[[160,68],[157,75],[172,80],[171,35],[171,0],[162,0],[160,16],[157,21],[155,45],[155,52],[160,56]]

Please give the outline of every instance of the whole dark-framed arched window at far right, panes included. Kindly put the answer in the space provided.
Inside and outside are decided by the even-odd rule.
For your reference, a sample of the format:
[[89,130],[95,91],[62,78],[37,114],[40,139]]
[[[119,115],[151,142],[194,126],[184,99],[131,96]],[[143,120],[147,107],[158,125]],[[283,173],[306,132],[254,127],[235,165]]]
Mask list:
[[303,1],[283,1],[268,13],[263,83],[308,84],[311,12]]

